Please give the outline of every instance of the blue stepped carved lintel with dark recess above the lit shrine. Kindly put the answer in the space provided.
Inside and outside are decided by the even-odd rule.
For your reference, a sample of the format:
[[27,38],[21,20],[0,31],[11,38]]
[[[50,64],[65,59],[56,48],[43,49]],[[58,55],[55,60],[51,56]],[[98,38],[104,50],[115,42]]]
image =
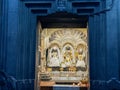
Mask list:
[[[95,13],[100,8],[101,4],[100,0],[21,1],[33,14],[37,15],[38,19],[43,23],[43,27],[58,25],[60,27],[86,27],[88,16]],[[76,23],[76,25],[72,23]]]

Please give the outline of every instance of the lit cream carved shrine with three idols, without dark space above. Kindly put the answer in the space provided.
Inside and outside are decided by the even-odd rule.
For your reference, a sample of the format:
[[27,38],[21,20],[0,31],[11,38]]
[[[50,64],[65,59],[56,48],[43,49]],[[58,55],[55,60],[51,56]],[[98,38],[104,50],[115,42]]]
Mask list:
[[39,22],[37,34],[37,90],[57,90],[55,87],[88,90],[90,80],[87,27],[42,28]]

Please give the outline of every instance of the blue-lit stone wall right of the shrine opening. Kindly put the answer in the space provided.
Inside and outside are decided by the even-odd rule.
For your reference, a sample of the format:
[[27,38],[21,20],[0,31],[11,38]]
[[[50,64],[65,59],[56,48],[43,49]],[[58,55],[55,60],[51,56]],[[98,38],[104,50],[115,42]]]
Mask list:
[[91,90],[120,90],[120,1],[102,1],[89,17]]

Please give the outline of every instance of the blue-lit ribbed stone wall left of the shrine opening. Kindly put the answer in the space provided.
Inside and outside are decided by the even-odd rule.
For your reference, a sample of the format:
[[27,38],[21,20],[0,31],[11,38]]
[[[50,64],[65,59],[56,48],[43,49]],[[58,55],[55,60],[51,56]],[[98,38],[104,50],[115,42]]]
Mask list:
[[35,48],[36,16],[19,0],[0,0],[0,70],[19,90],[34,88]]

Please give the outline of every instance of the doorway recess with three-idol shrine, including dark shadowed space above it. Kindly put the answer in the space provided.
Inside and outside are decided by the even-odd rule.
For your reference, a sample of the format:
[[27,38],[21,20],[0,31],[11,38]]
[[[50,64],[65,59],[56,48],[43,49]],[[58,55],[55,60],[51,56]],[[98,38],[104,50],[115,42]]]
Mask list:
[[[89,86],[88,17],[60,12],[38,17],[38,83]],[[41,32],[41,33],[40,33]]]

